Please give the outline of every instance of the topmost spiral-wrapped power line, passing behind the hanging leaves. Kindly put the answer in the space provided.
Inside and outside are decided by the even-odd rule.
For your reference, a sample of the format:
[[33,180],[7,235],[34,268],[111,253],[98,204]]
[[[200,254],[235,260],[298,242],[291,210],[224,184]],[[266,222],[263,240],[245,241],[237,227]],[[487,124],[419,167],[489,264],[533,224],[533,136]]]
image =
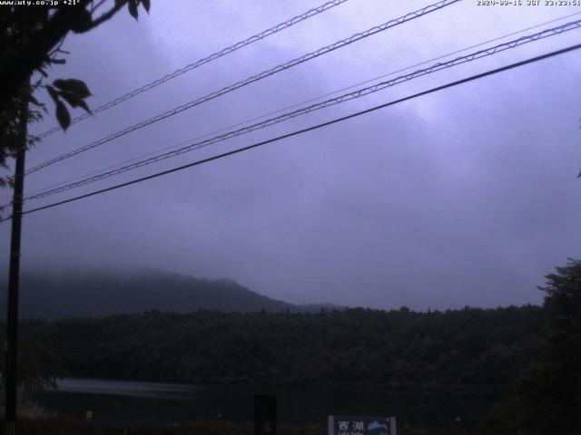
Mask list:
[[[134,89],[132,92],[127,92],[124,95],[122,95],[121,97],[118,97],[118,98],[112,100],[111,102],[105,102],[101,106],[93,109],[93,114],[100,113],[102,111],[106,111],[107,109],[111,109],[113,106],[116,106],[117,104],[120,104],[122,102],[130,100],[133,97],[139,95],[140,93],[149,91],[149,90],[159,86],[160,84],[162,84],[164,82],[168,82],[168,81],[170,81],[170,80],[172,80],[172,79],[174,79],[174,78],[176,78],[184,73],[189,73],[190,71],[202,66],[205,63],[210,63],[212,61],[215,61],[216,59],[221,58],[222,56],[225,56],[226,54],[230,54],[232,52],[235,52],[236,50],[241,49],[242,47],[250,45],[251,43],[256,43],[258,41],[261,41],[262,39],[264,39],[268,36],[271,36],[271,34],[276,34],[278,32],[281,32],[281,30],[287,29],[294,24],[298,24],[304,20],[307,20],[311,16],[315,16],[317,14],[321,14],[325,11],[328,11],[330,8],[338,6],[341,3],[345,3],[347,1],[348,0],[333,0],[331,2],[325,3],[324,5],[320,5],[318,7],[310,9],[309,11],[305,12],[304,14],[294,16],[290,20],[285,21],[284,23],[277,24],[277,25],[271,27],[270,29],[262,31],[260,34],[254,34],[250,38],[245,39],[244,41],[234,43],[231,46],[226,47],[219,52],[212,53],[209,56],[204,57],[203,59],[200,59],[194,63],[190,63],[190,64],[180,68],[179,70],[174,71],[173,73],[169,73],[167,75],[164,75],[161,79],[157,79],[153,82],[149,82],[147,84],[144,84],[142,87]],[[75,117],[71,121],[71,124],[75,124],[79,121],[84,121],[87,118],[89,118],[90,116],[91,115],[89,113],[84,113],[80,116]],[[42,133],[38,137],[39,137],[39,139],[44,139],[46,136],[49,136],[49,135],[55,133],[56,131],[61,131],[61,130],[62,129],[60,127],[54,127],[51,130],[44,131],[44,133]]]

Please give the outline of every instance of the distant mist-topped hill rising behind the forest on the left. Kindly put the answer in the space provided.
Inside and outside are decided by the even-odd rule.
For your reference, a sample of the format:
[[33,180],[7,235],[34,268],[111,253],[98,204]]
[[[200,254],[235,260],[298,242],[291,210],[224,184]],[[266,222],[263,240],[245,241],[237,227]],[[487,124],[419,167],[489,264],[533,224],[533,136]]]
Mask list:
[[[6,279],[2,279],[6,283]],[[159,270],[144,269],[133,275],[67,273],[23,275],[20,316],[55,319],[102,317],[145,311],[188,313],[319,311],[329,304],[297,305],[259,295],[229,279],[208,280]],[[0,318],[5,318],[5,293]]]

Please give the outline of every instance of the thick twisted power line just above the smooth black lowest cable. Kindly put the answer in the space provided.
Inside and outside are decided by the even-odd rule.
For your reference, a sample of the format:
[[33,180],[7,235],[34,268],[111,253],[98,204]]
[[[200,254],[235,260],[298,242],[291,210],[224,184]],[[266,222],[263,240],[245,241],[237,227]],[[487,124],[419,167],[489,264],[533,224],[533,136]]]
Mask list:
[[260,129],[263,129],[265,127],[269,127],[271,125],[280,123],[282,121],[288,121],[292,118],[295,118],[295,117],[300,116],[300,115],[304,115],[306,113],[310,113],[312,111],[319,111],[323,108],[330,107],[330,106],[336,105],[336,104],[340,104],[341,102],[354,100],[354,99],[360,98],[362,96],[369,95],[370,93],[379,92],[379,91],[384,90],[388,87],[395,86],[401,82],[409,82],[410,80],[416,79],[416,78],[424,76],[424,75],[428,75],[430,73],[435,73],[435,72],[441,71],[443,69],[448,69],[448,68],[451,68],[453,66],[458,66],[458,65],[463,64],[463,63],[472,62],[472,61],[481,59],[481,58],[486,57],[486,56],[490,56],[490,55],[493,55],[496,53],[501,53],[505,50],[515,48],[515,47],[523,45],[525,43],[531,43],[534,41],[538,41],[540,39],[544,39],[544,38],[547,38],[549,36],[554,36],[556,34],[562,34],[564,32],[574,30],[574,29],[577,29],[580,27],[581,27],[581,20],[577,20],[575,22],[566,23],[566,24],[562,24],[562,25],[559,25],[559,26],[551,28],[551,29],[543,30],[541,32],[538,32],[537,34],[530,34],[527,36],[522,36],[518,39],[509,41],[507,43],[500,43],[500,44],[497,44],[493,47],[489,47],[487,49],[480,50],[480,51],[475,52],[475,53],[469,53],[469,54],[466,54],[464,56],[457,57],[457,58],[450,60],[448,62],[445,62],[445,63],[436,63],[436,64],[434,64],[428,68],[425,68],[423,70],[417,70],[413,73],[400,75],[399,77],[391,79],[387,82],[379,82],[379,83],[374,84],[372,86],[362,88],[362,89],[359,89],[359,90],[354,91],[354,92],[349,92],[349,93],[340,95],[338,97],[331,98],[330,100],[326,100],[324,102],[312,104],[310,106],[299,109],[297,111],[287,112],[287,113],[284,113],[280,116],[271,118],[269,120],[257,122],[255,124],[250,125],[250,126],[243,127],[239,130],[229,131],[229,132],[226,132],[222,135],[215,136],[215,137],[208,139],[208,140],[202,140],[199,142],[195,142],[195,143],[192,143],[191,145],[188,145],[186,147],[182,147],[178,150],[172,150],[172,151],[169,151],[166,153],[158,154],[157,156],[154,156],[152,158],[141,160],[141,161],[138,161],[136,163],[132,163],[130,165],[123,166],[123,167],[118,168],[118,169],[109,170],[109,171],[103,172],[101,174],[95,175],[93,177],[81,179],[79,181],[75,181],[73,183],[67,184],[67,185],[59,187],[59,188],[47,189],[47,190],[44,190],[43,192],[35,194],[35,195],[28,195],[25,197],[25,200],[45,198],[48,196],[55,195],[57,193],[64,192],[65,190],[78,188],[78,187],[81,187],[81,186],[84,186],[86,184],[93,183],[95,181],[99,181],[102,179],[108,179],[108,178],[113,177],[115,175],[119,175],[123,172],[127,172],[127,171],[132,170],[132,169],[141,168],[143,166],[150,165],[152,163],[155,163],[155,162],[158,162],[161,160],[170,159],[172,157],[181,155],[185,152],[197,150],[197,149],[200,149],[202,147],[206,147],[208,145],[211,145],[213,143],[217,143],[217,142],[221,142],[223,140],[228,140],[228,139],[231,139],[231,138],[234,138],[237,136],[241,136],[242,134],[246,134],[246,133],[249,133],[251,131],[260,130]]

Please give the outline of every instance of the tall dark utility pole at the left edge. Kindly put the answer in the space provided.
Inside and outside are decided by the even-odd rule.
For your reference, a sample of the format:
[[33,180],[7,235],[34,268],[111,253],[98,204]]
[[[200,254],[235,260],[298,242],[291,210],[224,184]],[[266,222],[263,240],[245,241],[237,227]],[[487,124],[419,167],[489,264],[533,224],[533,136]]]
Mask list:
[[[28,84],[27,84],[28,85]],[[5,422],[6,435],[16,429],[16,354],[18,351],[18,288],[20,282],[20,236],[22,204],[25,189],[26,135],[28,132],[27,92],[22,95],[18,120],[15,161],[15,189],[12,200],[12,232],[10,236],[10,272],[8,275],[8,316],[6,321]]]

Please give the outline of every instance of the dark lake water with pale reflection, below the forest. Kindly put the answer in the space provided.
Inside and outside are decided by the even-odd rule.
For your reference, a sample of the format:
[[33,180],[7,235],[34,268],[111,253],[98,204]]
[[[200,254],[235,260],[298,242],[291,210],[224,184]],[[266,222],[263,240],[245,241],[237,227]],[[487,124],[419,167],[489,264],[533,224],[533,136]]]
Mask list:
[[196,386],[64,378],[58,391],[34,396],[46,411],[95,421],[178,422],[185,420],[251,421],[255,394],[278,397],[278,418],[293,424],[326,424],[327,416],[394,415],[399,424],[447,429],[459,416],[473,427],[498,395],[369,391],[350,388]]

